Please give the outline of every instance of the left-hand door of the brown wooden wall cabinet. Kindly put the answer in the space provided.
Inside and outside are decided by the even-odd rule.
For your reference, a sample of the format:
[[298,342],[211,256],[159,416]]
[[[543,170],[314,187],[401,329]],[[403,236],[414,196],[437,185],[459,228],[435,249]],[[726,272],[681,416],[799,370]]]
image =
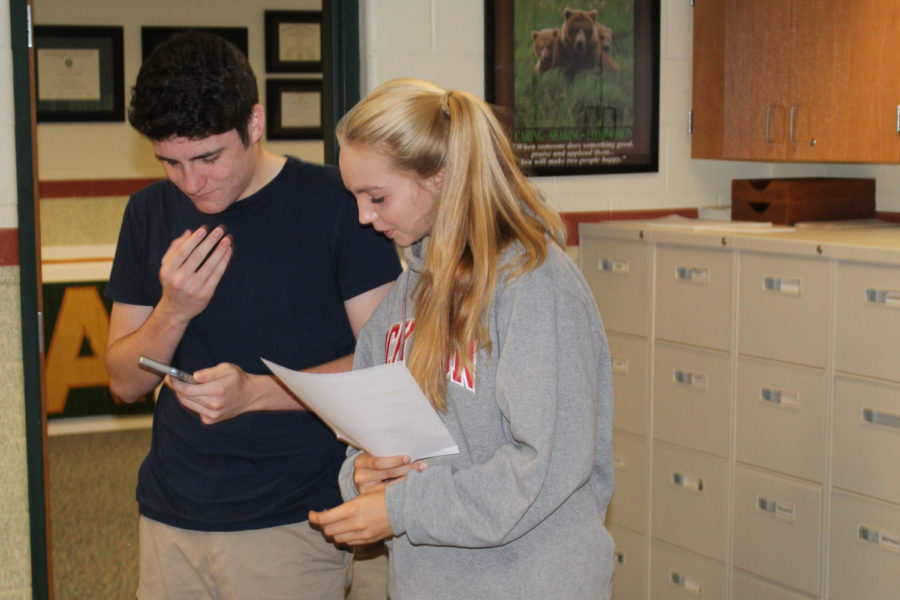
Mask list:
[[786,157],[790,3],[694,6],[693,158]]

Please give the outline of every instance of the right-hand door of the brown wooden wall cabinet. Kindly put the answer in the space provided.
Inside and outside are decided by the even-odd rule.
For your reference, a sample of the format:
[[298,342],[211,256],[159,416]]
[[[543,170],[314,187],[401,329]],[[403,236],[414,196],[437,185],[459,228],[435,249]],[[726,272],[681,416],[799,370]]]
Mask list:
[[792,160],[896,162],[897,2],[793,0]]

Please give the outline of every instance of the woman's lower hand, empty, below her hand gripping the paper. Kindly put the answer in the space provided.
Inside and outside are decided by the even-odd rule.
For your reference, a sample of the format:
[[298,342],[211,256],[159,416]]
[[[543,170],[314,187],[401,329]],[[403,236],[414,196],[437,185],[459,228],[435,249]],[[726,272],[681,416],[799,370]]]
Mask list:
[[309,522],[336,544],[364,546],[394,534],[387,514],[384,486],[322,512],[309,511]]

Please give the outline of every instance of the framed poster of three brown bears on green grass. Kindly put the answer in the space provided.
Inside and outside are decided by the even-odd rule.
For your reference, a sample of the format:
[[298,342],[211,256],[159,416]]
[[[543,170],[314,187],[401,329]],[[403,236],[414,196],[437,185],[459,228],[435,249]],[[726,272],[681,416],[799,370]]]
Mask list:
[[529,175],[659,170],[659,0],[486,0],[486,98]]

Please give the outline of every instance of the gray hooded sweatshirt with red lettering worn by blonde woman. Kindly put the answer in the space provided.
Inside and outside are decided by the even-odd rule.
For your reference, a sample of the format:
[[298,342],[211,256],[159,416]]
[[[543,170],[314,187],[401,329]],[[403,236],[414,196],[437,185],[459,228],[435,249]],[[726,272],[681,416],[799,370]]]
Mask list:
[[[407,250],[410,268],[363,328],[355,368],[408,355],[424,252]],[[609,350],[588,286],[555,244],[536,270],[498,283],[489,332],[476,373],[448,363],[441,418],[460,453],[387,488],[391,599],[607,599]],[[341,470],[347,500],[356,455]]]

